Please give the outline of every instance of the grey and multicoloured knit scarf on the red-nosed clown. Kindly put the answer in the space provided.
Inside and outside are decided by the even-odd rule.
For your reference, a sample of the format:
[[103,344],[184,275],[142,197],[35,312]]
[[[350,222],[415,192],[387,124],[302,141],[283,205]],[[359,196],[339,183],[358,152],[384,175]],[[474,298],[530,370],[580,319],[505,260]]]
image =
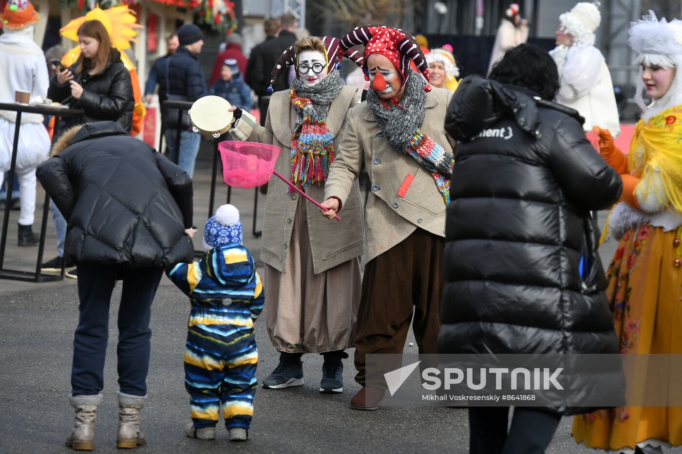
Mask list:
[[441,147],[421,130],[426,116],[426,92],[419,76],[411,72],[407,77],[400,103],[391,104],[370,89],[367,104],[391,147],[410,155],[428,170],[445,205],[449,205],[450,175],[455,160],[451,151]]

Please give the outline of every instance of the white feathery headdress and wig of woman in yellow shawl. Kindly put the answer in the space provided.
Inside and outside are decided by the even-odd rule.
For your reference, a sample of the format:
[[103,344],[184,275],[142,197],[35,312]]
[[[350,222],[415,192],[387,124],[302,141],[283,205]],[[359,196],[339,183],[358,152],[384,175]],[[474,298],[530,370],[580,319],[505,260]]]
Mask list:
[[637,22],[632,22],[627,40],[637,52],[636,64],[645,66],[674,67],[675,78],[668,92],[649,106],[644,104],[644,81],[642,70],[637,80],[635,102],[644,112],[644,121],[672,106],[682,104],[682,20],[666,18],[658,20],[653,11]]

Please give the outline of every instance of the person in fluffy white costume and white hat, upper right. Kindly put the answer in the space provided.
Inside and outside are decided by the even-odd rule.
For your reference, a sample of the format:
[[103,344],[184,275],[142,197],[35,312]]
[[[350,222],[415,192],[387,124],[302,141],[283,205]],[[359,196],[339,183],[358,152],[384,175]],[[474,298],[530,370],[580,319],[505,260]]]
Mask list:
[[594,46],[594,31],[602,16],[593,3],[578,3],[561,14],[561,29],[573,36],[570,47],[559,45],[550,52],[559,70],[561,89],[556,101],[578,110],[585,131],[599,126],[616,137],[621,133],[616,96],[604,55]]

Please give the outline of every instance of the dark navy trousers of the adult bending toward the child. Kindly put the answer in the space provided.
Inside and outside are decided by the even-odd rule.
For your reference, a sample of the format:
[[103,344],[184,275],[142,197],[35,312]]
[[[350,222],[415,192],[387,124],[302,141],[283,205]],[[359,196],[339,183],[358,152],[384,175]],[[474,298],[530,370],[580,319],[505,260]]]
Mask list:
[[109,303],[117,279],[123,279],[117,348],[121,393],[147,394],[151,302],[162,268],[128,268],[85,263],[78,267],[80,316],[74,334],[72,395],[97,395],[104,388],[104,356],[109,328]]

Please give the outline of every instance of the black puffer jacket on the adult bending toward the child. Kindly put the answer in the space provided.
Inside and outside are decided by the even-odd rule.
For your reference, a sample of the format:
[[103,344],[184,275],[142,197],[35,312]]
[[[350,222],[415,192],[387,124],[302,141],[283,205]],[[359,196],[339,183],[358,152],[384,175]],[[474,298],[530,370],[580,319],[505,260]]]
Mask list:
[[113,121],[68,130],[53,153],[38,179],[68,222],[65,254],[74,262],[168,268],[192,261],[187,172]]

